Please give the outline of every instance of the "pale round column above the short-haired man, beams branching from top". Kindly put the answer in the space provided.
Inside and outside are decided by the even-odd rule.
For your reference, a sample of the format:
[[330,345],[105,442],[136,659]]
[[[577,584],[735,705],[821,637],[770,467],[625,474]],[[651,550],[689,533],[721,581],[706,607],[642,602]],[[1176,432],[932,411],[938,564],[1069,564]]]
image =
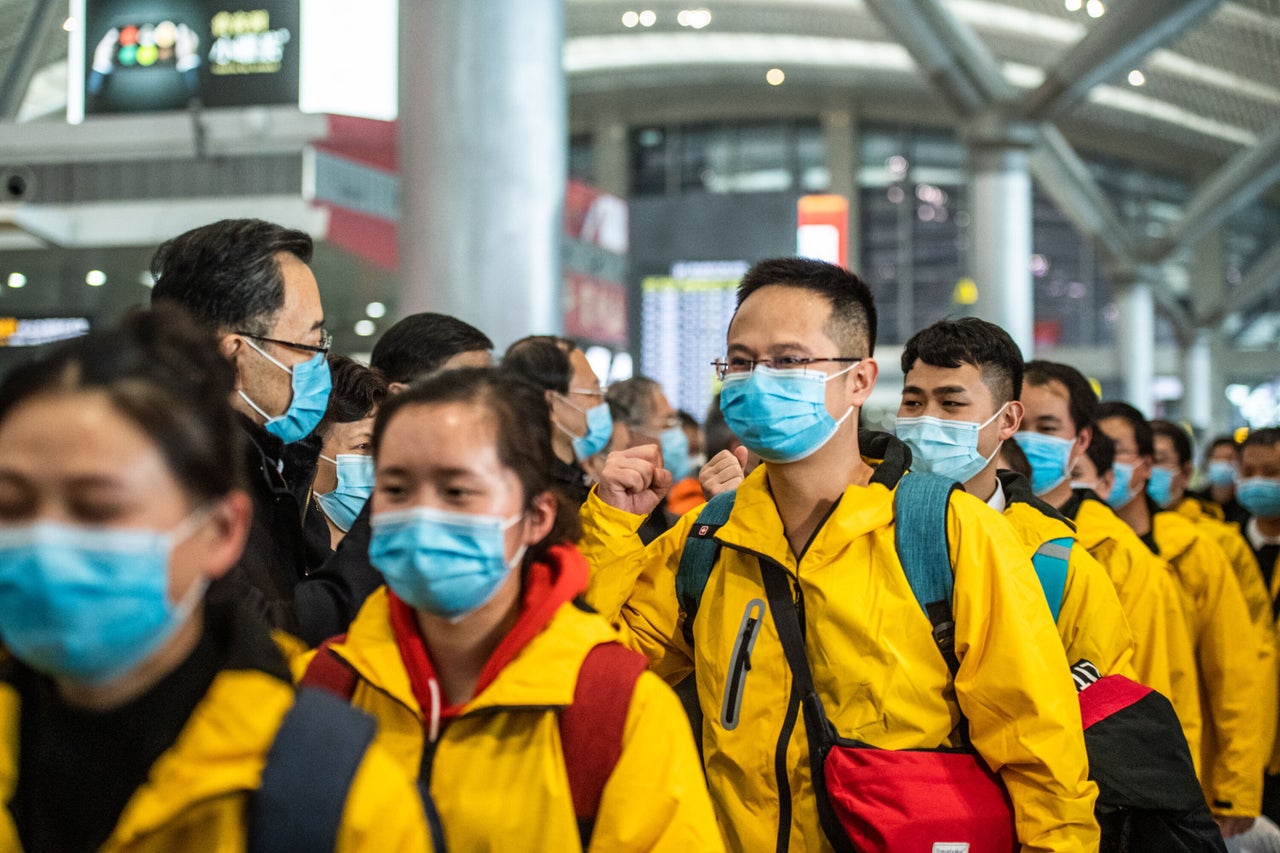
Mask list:
[[1032,289],[1032,178],[1034,131],[1020,126],[970,128],[973,278],[977,315],[1001,325],[1028,359],[1034,356]]

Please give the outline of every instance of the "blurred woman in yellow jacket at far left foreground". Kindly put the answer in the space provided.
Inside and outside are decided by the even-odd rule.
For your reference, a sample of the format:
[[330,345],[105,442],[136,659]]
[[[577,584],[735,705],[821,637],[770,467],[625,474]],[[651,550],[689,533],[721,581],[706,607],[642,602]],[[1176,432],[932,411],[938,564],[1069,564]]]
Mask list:
[[[205,603],[248,530],[230,392],[174,313],[0,388],[0,850],[317,849],[256,794],[294,706],[284,657],[251,615]],[[411,780],[376,748],[356,760],[271,793],[305,807],[349,784],[319,847],[430,849]]]

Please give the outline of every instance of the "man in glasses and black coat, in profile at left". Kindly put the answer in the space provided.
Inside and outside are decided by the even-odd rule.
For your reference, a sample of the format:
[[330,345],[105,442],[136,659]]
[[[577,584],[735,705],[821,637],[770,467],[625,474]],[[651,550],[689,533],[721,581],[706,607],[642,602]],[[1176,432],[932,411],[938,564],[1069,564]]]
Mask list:
[[[236,370],[232,406],[247,437],[253,526],[218,594],[248,603],[273,628],[298,631],[294,593],[307,558],[303,525],[329,402],[329,334],[311,237],[260,219],[225,219],[165,242],[151,259],[152,302],[180,305],[218,339]],[[233,460],[228,460],[233,464]],[[211,592],[211,594],[214,594]]]

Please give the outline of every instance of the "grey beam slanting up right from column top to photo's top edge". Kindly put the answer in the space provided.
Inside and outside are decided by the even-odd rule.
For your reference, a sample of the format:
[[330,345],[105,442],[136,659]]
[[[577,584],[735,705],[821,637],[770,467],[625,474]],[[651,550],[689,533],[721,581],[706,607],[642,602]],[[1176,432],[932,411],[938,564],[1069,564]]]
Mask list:
[[1098,83],[1111,79],[1143,56],[1165,45],[1201,18],[1220,0],[1129,0],[1117,4],[1066,55],[1051,68],[1039,88],[1030,92],[1021,113],[1036,120],[1051,120],[1079,104]]

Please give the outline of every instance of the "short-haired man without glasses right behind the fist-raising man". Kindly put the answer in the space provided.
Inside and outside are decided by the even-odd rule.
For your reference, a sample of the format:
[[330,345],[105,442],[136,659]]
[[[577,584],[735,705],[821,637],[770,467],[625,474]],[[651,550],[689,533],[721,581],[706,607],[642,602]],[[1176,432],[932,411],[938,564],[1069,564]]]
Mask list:
[[1032,494],[1027,478],[997,471],[996,457],[1023,419],[1018,345],[978,318],[940,320],[906,342],[902,375],[896,432],[911,448],[913,469],[954,479],[1002,514],[1033,562],[1069,543],[1065,584],[1052,590],[1066,662],[1137,678],[1133,637],[1106,570],[1075,543],[1070,523]]

